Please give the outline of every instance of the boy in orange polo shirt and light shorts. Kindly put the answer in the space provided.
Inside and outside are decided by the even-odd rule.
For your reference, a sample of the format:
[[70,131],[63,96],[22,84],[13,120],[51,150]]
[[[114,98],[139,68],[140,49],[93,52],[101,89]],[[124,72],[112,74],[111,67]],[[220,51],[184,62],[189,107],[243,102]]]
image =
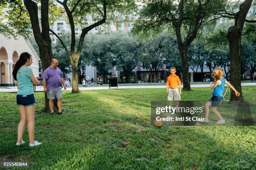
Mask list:
[[[169,75],[169,77],[167,78],[166,81],[166,85],[167,85],[167,99],[169,101],[174,100],[177,101],[177,105],[178,105],[178,100],[181,100],[180,95],[181,95],[181,84],[180,84],[180,79],[179,76],[177,76],[176,73],[176,68],[175,67],[171,67],[170,69],[171,74]],[[179,88],[178,88],[179,85]]]

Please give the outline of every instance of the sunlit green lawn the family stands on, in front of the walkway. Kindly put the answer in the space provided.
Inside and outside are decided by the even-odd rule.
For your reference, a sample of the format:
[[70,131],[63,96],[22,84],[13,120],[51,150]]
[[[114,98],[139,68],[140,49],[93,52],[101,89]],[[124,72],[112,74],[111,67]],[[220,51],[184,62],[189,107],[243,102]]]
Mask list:
[[[210,95],[210,88],[194,88],[182,100]],[[33,170],[256,168],[254,126],[151,126],[151,100],[166,101],[164,88],[63,92],[60,116],[41,113],[44,94],[36,92],[35,138],[43,144],[34,148],[27,130],[26,145],[15,146],[15,96],[0,93],[0,162],[24,161]],[[243,87],[243,96],[256,101],[255,87]]]

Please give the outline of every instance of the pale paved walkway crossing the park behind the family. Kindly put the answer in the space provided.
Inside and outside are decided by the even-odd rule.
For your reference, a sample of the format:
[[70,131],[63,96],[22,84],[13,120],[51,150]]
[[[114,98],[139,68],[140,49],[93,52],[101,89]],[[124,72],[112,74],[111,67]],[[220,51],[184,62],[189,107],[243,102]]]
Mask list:
[[[242,83],[242,86],[256,86],[256,83]],[[192,88],[198,87],[210,87],[210,85],[190,85]],[[182,85],[183,87],[183,85]],[[227,87],[227,85],[225,85]],[[119,86],[118,89],[138,89],[138,88],[166,88],[166,85],[133,85],[133,86]],[[116,87],[79,87],[79,90],[112,90],[117,89]],[[64,90],[64,89],[62,89]],[[68,91],[71,91],[72,88],[67,88]],[[36,92],[42,92],[44,88],[42,86],[36,87]],[[17,87],[0,87],[0,92],[18,92]]]

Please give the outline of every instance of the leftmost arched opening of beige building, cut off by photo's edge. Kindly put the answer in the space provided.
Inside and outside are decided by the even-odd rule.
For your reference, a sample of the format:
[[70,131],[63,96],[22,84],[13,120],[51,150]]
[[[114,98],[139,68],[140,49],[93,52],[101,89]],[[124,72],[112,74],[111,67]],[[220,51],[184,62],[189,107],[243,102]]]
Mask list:
[[[5,47],[0,48],[0,86],[10,86],[7,85],[10,82],[8,82],[8,77],[6,77],[6,69],[5,69],[5,61],[8,60],[7,51],[5,50]],[[8,70],[7,70],[8,71]]]

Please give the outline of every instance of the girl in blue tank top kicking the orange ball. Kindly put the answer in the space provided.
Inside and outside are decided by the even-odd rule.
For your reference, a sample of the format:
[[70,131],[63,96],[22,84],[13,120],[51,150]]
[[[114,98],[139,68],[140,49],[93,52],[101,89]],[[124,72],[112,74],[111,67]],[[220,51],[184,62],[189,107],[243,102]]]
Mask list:
[[240,93],[236,91],[236,89],[231,85],[225,78],[223,78],[223,68],[215,68],[212,71],[212,78],[215,80],[215,84],[212,85],[212,82],[210,83],[211,89],[213,89],[212,97],[205,103],[205,118],[203,123],[209,122],[209,107],[212,105],[212,111],[215,113],[215,115],[220,119],[217,124],[223,124],[225,123],[225,120],[220,115],[220,112],[218,112],[217,107],[220,105],[220,102],[223,100],[223,92],[224,92],[224,85],[227,84],[234,92],[236,93],[236,96],[239,96]]

